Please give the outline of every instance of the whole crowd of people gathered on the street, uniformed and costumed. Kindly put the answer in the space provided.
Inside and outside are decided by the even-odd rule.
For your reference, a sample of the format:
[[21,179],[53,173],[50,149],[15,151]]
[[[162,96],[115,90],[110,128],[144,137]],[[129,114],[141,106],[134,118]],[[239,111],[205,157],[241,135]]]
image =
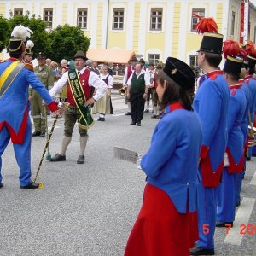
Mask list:
[[[256,107],[256,48],[252,42],[242,47],[232,40],[223,42],[214,20],[201,19],[196,27],[203,33],[198,50],[201,76],[196,81],[195,72],[173,57],[164,67],[153,63],[145,67],[143,59],[133,57],[125,68],[125,114],[131,115],[130,125],[142,125],[150,100],[152,119],[160,119],[141,160],[147,184],[125,256],[214,255],[215,228],[232,227],[235,221],[246,160],[255,154],[253,147],[248,148],[255,141],[248,125],[254,124]],[[92,113],[99,114],[98,121],[113,113],[113,76],[108,65],[99,70],[96,61],[80,50],[73,57],[73,68],[66,60],[60,68],[43,53],[33,68],[27,36],[10,38],[10,58],[0,64],[0,171],[11,138],[20,189],[37,189],[38,183],[31,180],[31,137],[45,137],[48,108],[56,115],[63,113],[65,119],[61,150],[51,161],[66,160],[78,122],[77,163],[84,164]],[[14,97],[16,105],[9,108]],[[67,102],[64,111],[58,109],[60,100]],[[0,188],[2,179],[0,172]]]

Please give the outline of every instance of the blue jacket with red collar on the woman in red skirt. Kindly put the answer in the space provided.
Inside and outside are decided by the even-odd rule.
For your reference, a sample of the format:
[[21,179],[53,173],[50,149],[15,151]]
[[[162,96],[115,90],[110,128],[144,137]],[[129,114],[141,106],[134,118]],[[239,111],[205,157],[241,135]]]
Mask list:
[[194,212],[201,124],[195,112],[177,109],[180,103],[170,106],[154,129],[141,166],[148,183],[163,189],[177,212]]

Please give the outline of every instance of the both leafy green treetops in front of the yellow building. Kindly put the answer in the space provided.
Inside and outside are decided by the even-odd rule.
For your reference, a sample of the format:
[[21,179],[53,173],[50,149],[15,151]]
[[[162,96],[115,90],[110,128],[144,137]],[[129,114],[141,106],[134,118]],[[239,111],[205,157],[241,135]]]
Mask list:
[[62,59],[71,60],[78,50],[86,52],[90,45],[90,38],[78,26],[57,26],[47,31],[46,23],[27,11],[25,15],[13,15],[9,20],[0,16],[0,41],[7,46],[10,34],[15,26],[27,26],[33,34],[30,38],[35,44],[32,51],[37,56],[39,52],[50,59],[60,62]]

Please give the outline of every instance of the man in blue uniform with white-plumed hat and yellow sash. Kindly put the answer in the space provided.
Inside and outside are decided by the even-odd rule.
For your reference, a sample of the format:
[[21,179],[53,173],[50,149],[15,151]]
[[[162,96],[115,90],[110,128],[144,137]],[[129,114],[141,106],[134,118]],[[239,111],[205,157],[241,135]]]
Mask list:
[[1,157],[11,139],[20,167],[20,189],[38,189],[38,183],[31,180],[32,125],[28,115],[28,86],[38,91],[51,111],[57,110],[55,102],[33,73],[31,65],[21,62],[25,54],[26,38],[30,33],[24,26],[14,28],[9,39],[10,58],[0,64],[0,188],[3,187]]

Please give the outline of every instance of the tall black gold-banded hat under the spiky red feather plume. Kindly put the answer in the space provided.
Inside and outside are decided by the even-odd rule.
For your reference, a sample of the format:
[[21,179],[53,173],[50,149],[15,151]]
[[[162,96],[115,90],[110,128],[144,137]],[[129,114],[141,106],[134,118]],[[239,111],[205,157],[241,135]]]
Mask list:
[[221,55],[223,45],[223,35],[219,33],[205,32],[201,40],[198,51],[209,52]]

